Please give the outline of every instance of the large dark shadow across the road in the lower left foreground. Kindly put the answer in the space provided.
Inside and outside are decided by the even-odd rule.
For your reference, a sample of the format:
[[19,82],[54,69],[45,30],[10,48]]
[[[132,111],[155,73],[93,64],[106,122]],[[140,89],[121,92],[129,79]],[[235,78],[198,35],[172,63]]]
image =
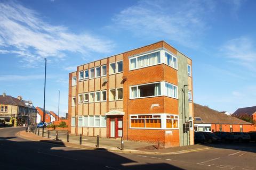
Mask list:
[[0,140],[1,169],[181,169],[158,160],[153,162],[143,159],[138,163],[138,157],[124,157],[123,154],[115,154],[105,149],[81,150],[45,141],[19,141],[19,138],[9,140],[12,138],[14,137]]

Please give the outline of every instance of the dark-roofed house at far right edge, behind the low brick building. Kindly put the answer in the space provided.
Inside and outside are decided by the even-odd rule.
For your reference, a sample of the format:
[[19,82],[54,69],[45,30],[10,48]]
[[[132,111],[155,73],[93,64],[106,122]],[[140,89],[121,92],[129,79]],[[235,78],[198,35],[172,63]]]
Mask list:
[[243,116],[249,116],[254,120],[254,122],[256,122],[256,106],[238,108],[236,112],[232,114],[232,116],[237,118],[241,118]]

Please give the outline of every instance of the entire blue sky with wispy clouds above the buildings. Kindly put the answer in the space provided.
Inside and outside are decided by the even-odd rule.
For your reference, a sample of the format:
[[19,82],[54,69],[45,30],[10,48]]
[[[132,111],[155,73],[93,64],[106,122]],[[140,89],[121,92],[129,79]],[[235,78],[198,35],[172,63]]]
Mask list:
[[77,65],[165,40],[193,60],[195,103],[255,106],[255,1],[0,1],[0,92],[68,109]]

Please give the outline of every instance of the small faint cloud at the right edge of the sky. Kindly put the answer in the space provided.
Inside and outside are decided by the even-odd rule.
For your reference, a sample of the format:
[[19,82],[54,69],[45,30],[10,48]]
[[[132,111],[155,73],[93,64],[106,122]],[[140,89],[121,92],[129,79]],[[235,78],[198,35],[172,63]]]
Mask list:
[[256,45],[251,38],[239,37],[228,40],[222,45],[220,51],[222,56],[229,59],[229,62],[256,71]]

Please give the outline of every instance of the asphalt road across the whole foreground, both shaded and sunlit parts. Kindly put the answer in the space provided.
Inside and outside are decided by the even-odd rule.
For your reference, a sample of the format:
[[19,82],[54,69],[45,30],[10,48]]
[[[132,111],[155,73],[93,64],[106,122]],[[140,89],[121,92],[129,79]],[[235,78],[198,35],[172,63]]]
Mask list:
[[256,145],[215,145],[179,155],[115,154],[21,139],[0,129],[0,169],[256,169]]

